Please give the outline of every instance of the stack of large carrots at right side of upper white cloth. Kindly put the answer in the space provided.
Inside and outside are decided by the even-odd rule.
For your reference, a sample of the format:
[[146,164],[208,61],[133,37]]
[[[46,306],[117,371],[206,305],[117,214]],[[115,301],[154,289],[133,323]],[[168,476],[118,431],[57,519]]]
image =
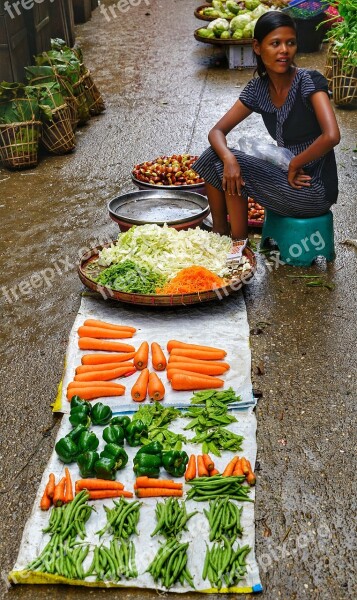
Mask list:
[[223,375],[229,364],[222,359],[225,350],[199,344],[170,340],[167,344],[170,358],[167,378],[174,390],[203,390],[223,387]]

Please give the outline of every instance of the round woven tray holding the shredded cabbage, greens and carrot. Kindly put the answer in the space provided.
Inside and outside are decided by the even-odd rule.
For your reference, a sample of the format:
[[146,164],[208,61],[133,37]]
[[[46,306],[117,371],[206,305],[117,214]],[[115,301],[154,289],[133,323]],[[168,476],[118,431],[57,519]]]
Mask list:
[[248,258],[251,265],[249,274],[245,272],[244,277],[239,276],[232,278],[230,283],[222,288],[192,294],[172,294],[167,296],[156,294],[129,294],[127,292],[118,292],[106,286],[98,285],[93,281],[93,277],[97,277],[100,272],[106,268],[98,265],[99,251],[102,250],[103,247],[104,246],[97,246],[83,254],[78,265],[79,278],[85,286],[94,292],[99,292],[104,299],[118,300],[119,302],[125,302],[127,304],[139,304],[142,306],[186,306],[187,304],[199,304],[200,302],[209,302],[211,300],[223,300],[240,290],[242,285],[247,283],[254,276],[257,268],[254,252],[252,252],[250,248],[245,248],[243,255]]

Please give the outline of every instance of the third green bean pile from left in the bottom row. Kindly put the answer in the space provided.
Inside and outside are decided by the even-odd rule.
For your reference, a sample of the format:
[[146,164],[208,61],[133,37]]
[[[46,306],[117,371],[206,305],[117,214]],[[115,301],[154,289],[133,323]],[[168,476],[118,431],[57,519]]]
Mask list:
[[194,588],[192,575],[187,564],[187,548],[189,544],[180,544],[176,539],[170,539],[160,546],[154,560],[147,571],[155,582],[169,589],[177,581],[184,585],[185,581]]

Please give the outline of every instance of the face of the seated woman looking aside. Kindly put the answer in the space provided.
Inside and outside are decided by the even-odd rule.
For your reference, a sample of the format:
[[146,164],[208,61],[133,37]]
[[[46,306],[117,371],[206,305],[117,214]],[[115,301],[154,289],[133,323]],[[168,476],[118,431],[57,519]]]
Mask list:
[[254,40],[253,50],[260,55],[267,71],[286,73],[297,51],[296,33],[291,27],[278,27],[268,33],[261,43]]

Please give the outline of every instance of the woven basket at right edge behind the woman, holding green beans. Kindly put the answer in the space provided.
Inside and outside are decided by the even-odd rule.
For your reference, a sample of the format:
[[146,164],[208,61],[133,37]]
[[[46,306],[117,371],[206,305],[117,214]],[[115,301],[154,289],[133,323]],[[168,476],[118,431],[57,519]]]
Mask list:
[[357,106],[357,68],[332,53],[332,98],[336,106]]

